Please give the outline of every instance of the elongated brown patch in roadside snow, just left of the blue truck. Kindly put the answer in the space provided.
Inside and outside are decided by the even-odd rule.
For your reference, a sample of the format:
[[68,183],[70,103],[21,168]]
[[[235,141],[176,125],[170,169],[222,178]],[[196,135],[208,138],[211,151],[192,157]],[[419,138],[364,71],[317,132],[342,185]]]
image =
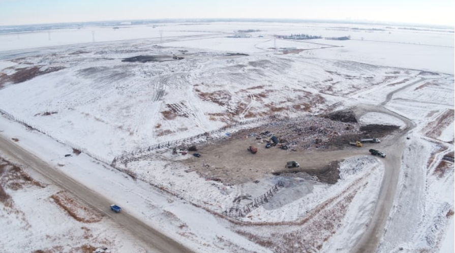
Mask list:
[[77,221],[93,223],[103,218],[102,214],[77,202],[70,193],[60,191],[53,194],[51,199]]

